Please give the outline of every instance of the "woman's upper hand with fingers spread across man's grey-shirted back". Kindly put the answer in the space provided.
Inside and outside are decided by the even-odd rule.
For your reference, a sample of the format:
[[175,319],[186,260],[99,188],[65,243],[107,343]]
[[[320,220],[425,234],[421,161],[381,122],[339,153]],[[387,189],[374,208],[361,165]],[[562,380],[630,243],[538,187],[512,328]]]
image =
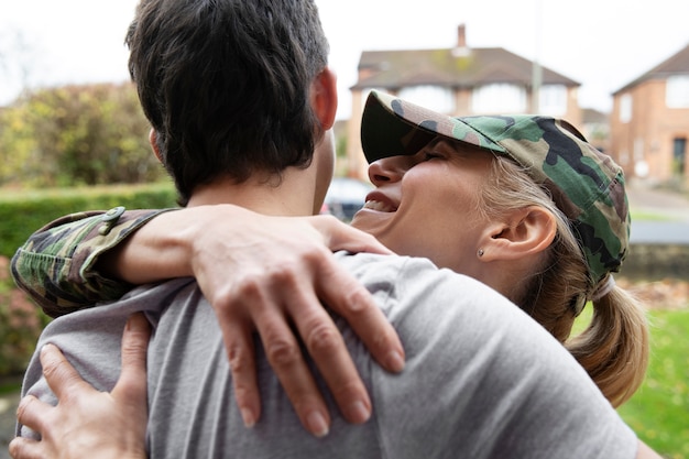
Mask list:
[[[328,409],[291,324],[344,418],[365,422],[371,401],[324,305],[349,323],[379,363],[390,371],[401,371],[404,351],[396,332],[370,293],[331,253],[390,252],[371,236],[332,217],[265,220],[261,216],[261,229],[251,234],[260,237],[259,242],[209,233],[198,239],[193,256],[195,275],[222,329],[244,423],[253,425],[261,409],[252,338],[258,330],[267,359],[303,425],[317,436],[328,430]],[[232,259],[231,264],[227,263],[228,258]],[[221,265],[223,270],[218,269]]]

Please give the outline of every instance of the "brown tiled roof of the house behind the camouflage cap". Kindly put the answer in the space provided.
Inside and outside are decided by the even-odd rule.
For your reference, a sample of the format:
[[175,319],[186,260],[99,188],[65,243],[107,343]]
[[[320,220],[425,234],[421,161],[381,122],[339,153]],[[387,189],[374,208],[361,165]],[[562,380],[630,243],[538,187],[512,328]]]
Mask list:
[[[434,85],[471,88],[485,83],[532,85],[533,63],[502,47],[364,51],[353,88]],[[543,67],[542,84],[581,86]]]

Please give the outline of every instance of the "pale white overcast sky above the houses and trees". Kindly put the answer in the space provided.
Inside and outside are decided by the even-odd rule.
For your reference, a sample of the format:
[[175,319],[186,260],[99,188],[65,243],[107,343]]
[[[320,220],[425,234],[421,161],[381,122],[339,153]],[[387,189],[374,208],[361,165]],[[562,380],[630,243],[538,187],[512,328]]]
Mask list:
[[[123,36],[138,0],[0,0],[0,105],[23,87],[124,81]],[[464,24],[470,47],[504,47],[582,86],[579,103],[609,111],[611,94],[689,44],[688,0],[316,0],[338,75],[338,118],[362,51],[447,48]]]

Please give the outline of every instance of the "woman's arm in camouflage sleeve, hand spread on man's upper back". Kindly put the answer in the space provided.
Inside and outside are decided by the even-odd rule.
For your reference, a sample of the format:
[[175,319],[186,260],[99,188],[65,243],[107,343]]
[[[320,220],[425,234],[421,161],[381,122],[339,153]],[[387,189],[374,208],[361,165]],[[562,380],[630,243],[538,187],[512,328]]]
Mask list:
[[[309,424],[306,419],[321,419],[311,424],[309,430],[324,434],[329,424],[326,403],[288,321],[296,325],[344,417],[352,423],[368,419],[371,402],[367,390],[321,303],[349,321],[385,369],[400,371],[404,367],[404,351],[396,332],[369,292],[331,254],[331,250],[390,253],[371,236],[330,216],[266,217],[229,205],[146,214],[141,217],[150,220],[146,225],[127,217],[125,212],[112,218],[105,230],[99,230],[103,226],[101,217],[91,217],[65,228],[53,225],[47,236],[35,233],[13,259],[13,272],[24,273],[18,283],[24,287],[40,286],[44,276],[52,275],[57,277],[51,278],[51,288],[57,291],[57,296],[74,273],[78,273],[77,282],[84,285],[90,285],[95,278],[118,285],[113,280],[120,278],[122,288],[196,276],[218,316],[247,425],[253,425],[261,413],[254,330],[305,425]],[[46,238],[51,243],[40,243]],[[35,261],[32,269],[21,269],[22,258]],[[45,260],[55,258],[69,267],[53,270],[51,274],[52,264]],[[89,294],[97,292],[88,289]],[[32,293],[35,297],[36,289]],[[42,304],[52,300],[47,294],[51,292],[46,289]],[[84,307],[92,296],[76,298],[73,291],[68,298]]]

